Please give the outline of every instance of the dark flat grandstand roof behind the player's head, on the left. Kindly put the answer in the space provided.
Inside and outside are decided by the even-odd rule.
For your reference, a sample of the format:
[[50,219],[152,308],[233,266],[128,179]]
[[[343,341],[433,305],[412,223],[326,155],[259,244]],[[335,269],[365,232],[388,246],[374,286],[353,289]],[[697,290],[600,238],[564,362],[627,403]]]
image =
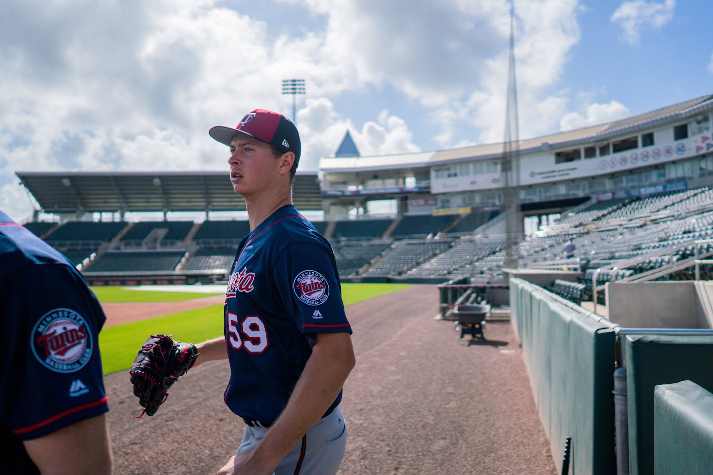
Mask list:
[[[16,172],[45,213],[243,211],[227,172]],[[316,172],[297,172],[294,205],[322,209]]]

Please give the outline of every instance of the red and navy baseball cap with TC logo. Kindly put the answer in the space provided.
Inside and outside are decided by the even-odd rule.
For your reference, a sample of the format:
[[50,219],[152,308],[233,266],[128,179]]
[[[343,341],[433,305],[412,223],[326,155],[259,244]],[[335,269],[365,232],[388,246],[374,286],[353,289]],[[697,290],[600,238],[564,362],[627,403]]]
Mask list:
[[212,127],[210,136],[223,145],[230,147],[230,141],[235,134],[245,134],[267,145],[272,145],[282,153],[294,153],[294,162],[299,162],[299,132],[292,120],[271,110],[255,109],[245,114],[240,123],[232,127],[216,125]]

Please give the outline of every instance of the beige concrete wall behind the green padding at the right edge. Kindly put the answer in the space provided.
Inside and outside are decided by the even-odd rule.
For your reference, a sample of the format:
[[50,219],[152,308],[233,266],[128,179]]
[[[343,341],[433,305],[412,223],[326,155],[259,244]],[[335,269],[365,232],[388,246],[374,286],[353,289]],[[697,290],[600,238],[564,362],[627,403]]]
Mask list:
[[[607,283],[609,319],[629,328],[712,328],[711,287],[694,281]],[[708,301],[702,301],[702,293]]]

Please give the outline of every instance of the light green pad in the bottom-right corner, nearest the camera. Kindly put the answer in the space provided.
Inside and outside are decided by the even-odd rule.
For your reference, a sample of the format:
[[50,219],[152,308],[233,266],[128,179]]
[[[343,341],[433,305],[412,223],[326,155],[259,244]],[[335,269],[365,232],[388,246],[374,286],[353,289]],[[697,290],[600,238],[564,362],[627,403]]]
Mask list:
[[654,474],[713,471],[713,394],[691,381],[654,390]]

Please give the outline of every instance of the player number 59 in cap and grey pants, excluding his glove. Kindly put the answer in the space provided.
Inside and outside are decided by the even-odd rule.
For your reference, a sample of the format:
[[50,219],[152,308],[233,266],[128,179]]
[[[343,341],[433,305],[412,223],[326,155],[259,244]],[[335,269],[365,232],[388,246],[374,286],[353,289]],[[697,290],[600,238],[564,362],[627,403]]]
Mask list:
[[299,133],[258,109],[210,135],[230,147],[230,182],[250,220],[227,286],[225,335],[197,345],[196,365],[230,361],[225,403],[247,424],[218,473],[334,474],[347,439],[339,402],[354,367],[352,329],[332,247],[292,206]]

